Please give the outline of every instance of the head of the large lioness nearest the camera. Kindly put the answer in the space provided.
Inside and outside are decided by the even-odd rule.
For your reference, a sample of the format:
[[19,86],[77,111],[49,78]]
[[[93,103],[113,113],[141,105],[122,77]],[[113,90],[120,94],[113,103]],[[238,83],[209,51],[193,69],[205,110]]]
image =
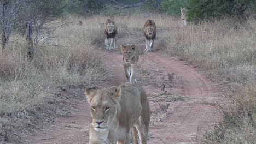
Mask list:
[[119,102],[118,87],[96,89],[86,88],[85,95],[90,104],[91,125],[95,130],[106,130],[113,122]]

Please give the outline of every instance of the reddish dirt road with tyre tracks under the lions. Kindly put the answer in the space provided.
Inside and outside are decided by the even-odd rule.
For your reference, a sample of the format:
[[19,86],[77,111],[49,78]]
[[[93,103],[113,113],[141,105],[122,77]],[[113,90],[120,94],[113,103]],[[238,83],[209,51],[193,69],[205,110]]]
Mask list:
[[[137,45],[144,49],[145,45]],[[112,75],[107,86],[125,81],[122,56],[104,51]],[[215,110],[202,105],[212,100],[218,88],[191,65],[160,52],[144,52],[139,57],[137,80],[146,90],[152,111],[149,144],[194,143],[211,125]],[[83,93],[81,93],[83,94]],[[28,137],[26,143],[88,143],[88,103],[75,101],[79,112],[57,117],[56,123]]]

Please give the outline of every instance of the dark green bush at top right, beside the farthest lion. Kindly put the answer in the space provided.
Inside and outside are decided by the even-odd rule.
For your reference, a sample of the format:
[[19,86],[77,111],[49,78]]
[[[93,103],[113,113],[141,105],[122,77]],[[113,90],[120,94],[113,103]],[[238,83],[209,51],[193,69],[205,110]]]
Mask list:
[[247,11],[251,9],[247,0],[188,0],[188,21],[200,21],[203,19],[221,18],[223,16],[247,17]]

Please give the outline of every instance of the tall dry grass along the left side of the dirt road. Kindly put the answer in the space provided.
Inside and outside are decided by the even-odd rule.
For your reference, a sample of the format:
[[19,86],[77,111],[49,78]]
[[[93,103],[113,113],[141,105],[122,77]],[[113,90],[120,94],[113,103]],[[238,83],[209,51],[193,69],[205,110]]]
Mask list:
[[[53,121],[53,113],[70,111],[61,89],[83,88],[108,79],[101,54],[77,25],[58,28],[54,43],[41,47],[32,62],[26,60],[25,38],[0,55],[0,143],[21,143],[19,136]],[[82,90],[83,91],[83,90]]]

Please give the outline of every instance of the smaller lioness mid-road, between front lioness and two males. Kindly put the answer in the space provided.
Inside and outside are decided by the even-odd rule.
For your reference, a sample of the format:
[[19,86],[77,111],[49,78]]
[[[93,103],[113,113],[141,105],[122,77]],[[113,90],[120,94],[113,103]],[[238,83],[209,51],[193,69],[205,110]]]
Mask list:
[[135,50],[135,45],[121,45],[123,53],[123,65],[127,82],[137,82],[135,75],[137,72],[137,63],[139,55]]

